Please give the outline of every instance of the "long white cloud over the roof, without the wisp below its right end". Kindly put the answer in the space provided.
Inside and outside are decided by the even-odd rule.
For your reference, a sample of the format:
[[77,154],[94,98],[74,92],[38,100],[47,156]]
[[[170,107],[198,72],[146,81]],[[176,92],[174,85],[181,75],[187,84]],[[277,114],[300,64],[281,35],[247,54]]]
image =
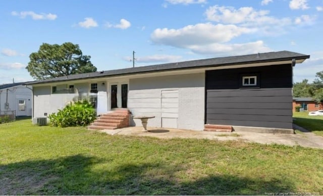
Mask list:
[[158,44],[185,48],[196,44],[227,42],[241,34],[251,32],[253,32],[252,29],[236,25],[200,23],[181,29],[155,29],[151,34],[151,40]]

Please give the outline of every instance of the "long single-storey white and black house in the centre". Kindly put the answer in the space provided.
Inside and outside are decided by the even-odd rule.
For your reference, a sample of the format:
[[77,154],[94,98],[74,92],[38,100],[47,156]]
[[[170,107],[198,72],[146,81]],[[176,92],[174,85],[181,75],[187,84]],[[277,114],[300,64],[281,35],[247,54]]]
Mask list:
[[[27,83],[33,117],[57,112],[77,97],[90,97],[98,114],[128,108],[154,115],[148,125],[203,130],[292,130],[293,67],[309,55],[290,51],[190,60],[77,74]],[[140,126],[134,119],[131,125]]]

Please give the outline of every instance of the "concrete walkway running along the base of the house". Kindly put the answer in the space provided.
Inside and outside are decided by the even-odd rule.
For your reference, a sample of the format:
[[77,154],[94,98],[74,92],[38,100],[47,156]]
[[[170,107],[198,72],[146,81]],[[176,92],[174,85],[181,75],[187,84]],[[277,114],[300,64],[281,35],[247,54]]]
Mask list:
[[236,140],[244,142],[255,142],[260,144],[282,144],[288,146],[300,145],[309,148],[323,149],[323,137],[316,136],[310,132],[303,134],[264,134],[254,132],[203,132],[196,130],[183,130],[174,128],[148,127],[149,132],[142,132],[141,126],[130,126],[114,130],[103,129],[103,132],[110,135],[125,136],[147,136],[162,139],[171,138],[195,138],[209,140]]

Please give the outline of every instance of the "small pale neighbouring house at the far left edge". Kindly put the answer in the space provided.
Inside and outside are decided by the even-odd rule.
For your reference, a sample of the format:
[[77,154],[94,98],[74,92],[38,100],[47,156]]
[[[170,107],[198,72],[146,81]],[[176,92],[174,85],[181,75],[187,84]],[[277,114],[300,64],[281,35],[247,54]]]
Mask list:
[[31,86],[24,82],[0,85],[0,117],[31,116]]

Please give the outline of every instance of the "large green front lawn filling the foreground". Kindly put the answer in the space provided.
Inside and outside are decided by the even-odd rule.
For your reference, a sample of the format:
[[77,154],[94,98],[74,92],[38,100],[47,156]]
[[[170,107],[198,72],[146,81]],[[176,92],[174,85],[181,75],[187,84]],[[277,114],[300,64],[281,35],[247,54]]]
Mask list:
[[0,194],[323,194],[323,150],[0,124]]

